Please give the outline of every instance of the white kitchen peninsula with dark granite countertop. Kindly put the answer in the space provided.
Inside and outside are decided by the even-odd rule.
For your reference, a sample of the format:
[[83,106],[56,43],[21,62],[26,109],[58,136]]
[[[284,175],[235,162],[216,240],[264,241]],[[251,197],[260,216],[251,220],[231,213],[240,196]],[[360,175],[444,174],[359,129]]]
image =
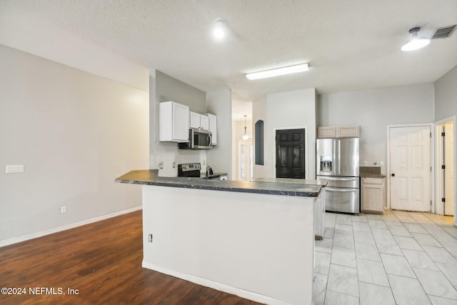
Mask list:
[[143,188],[144,268],[265,304],[312,304],[319,184],[159,177]]

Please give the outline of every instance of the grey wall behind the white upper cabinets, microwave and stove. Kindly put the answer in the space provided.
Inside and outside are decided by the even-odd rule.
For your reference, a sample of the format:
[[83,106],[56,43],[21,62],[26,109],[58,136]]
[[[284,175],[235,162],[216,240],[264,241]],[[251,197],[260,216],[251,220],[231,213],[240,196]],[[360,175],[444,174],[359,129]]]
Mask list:
[[[176,101],[176,103],[189,106],[191,111],[204,114],[206,113],[206,92],[160,71],[156,71],[155,77],[151,76],[150,80],[151,82],[155,81],[154,88],[156,91],[154,95],[150,94],[151,107],[155,107],[154,120],[151,119],[151,124],[155,126],[154,131],[151,129],[151,169],[158,168],[158,164],[163,162],[164,169],[159,169],[159,176],[177,176],[177,164],[199,162],[203,166],[206,162],[206,152],[204,150],[178,149],[178,144],[176,143],[159,141],[157,134],[159,133],[160,102]],[[155,164],[152,162],[155,162]],[[173,167],[173,164],[176,166]]]

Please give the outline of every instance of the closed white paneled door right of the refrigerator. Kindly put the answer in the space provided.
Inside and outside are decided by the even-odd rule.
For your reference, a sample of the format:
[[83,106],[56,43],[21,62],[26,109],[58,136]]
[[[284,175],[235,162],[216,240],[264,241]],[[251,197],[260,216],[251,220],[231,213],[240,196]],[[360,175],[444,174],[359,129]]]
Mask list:
[[391,209],[431,211],[430,126],[391,127]]

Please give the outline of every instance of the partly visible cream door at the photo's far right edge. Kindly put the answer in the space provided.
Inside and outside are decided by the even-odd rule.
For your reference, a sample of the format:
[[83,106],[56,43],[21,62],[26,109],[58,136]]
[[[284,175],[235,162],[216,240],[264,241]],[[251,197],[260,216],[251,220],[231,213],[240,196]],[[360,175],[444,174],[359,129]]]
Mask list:
[[444,215],[454,214],[454,126],[444,124]]

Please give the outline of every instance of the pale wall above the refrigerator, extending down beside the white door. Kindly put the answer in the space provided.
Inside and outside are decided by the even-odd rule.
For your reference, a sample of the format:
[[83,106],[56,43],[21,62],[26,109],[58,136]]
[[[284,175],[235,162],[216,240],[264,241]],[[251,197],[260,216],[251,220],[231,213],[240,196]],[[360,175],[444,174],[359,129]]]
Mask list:
[[359,125],[360,162],[386,162],[386,126],[431,123],[433,83],[385,89],[322,94],[317,102],[317,125]]

